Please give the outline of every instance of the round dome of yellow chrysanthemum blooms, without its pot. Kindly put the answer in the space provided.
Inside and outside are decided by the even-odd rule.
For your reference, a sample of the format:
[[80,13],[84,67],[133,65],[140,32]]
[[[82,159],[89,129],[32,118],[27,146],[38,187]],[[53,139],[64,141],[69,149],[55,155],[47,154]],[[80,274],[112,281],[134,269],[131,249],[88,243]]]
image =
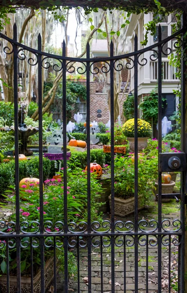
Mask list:
[[[122,126],[123,133],[127,137],[134,137],[134,119],[129,119]],[[148,122],[142,119],[138,119],[138,137],[149,137],[152,128]]]

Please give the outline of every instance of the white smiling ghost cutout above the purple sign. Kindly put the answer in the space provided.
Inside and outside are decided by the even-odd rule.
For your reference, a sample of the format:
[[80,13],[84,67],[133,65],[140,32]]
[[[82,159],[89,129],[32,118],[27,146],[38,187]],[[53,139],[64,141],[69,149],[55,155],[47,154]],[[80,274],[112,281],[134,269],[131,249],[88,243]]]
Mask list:
[[[68,142],[69,138],[66,135],[66,141]],[[48,153],[49,154],[60,154],[62,153],[62,146],[63,146],[63,126],[60,128],[56,128],[52,132],[51,137],[47,137],[47,143],[50,143],[48,146]]]

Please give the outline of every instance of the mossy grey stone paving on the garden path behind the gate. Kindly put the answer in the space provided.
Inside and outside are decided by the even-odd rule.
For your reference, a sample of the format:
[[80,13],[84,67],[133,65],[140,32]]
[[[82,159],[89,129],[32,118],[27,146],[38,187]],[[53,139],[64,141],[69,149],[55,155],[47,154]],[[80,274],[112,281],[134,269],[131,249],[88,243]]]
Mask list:
[[[163,203],[163,219],[169,220],[180,219],[179,204],[175,200],[169,203]],[[105,214],[104,219],[109,219],[110,215]],[[143,209],[139,212],[139,220],[141,219],[157,219],[157,203],[151,202],[149,209]],[[128,219],[116,217],[115,219],[123,222],[127,220],[133,221],[133,215]],[[143,237],[142,237],[143,238]],[[154,237],[150,237],[154,238]],[[171,241],[174,236],[171,236]],[[126,240],[128,237],[126,238]],[[165,239],[166,240],[166,239]],[[143,243],[143,241],[142,241]],[[152,242],[154,243],[154,242]],[[165,241],[166,243],[166,241]],[[148,246],[148,291],[146,291],[146,246],[138,245],[138,293],[157,293],[158,290],[158,256],[157,246]],[[74,250],[76,256],[76,249]],[[92,293],[110,293],[111,292],[111,247],[103,248],[103,265],[101,267],[101,250],[100,247],[92,248]],[[87,248],[79,250],[79,266],[80,266],[80,293],[88,292],[88,252]],[[177,292],[177,275],[178,275],[178,246],[171,244],[170,246],[170,277],[171,277],[171,293]],[[168,260],[169,246],[162,245],[162,292],[168,293]],[[124,261],[126,264],[124,266]],[[125,270],[124,270],[125,269]],[[115,246],[115,292],[116,293],[134,293],[134,245],[128,247],[124,254],[124,247]],[[103,271],[103,284],[101,285],[101,271]],[[126,275],[124,275],[124,272]],[[126,277],[126,278],[125,278]],[[57,276],[57,293],[62,293],[62,276]],[[124,287],[125,284],[125,287]],[[69,291],[78,293],[77,280],[70,279]]]

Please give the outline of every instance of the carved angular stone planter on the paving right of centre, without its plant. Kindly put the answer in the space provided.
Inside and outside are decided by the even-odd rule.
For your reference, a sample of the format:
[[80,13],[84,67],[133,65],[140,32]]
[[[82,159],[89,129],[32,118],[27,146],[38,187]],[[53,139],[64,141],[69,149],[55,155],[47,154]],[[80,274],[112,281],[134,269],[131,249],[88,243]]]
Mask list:
[[[114,214],[116,216],[125,217],[132,212],[134,212],[134,197],[130,197],[128,199],[122,199],[119,197],[114,197]],[[110,203],[110,209],[111,209],[111,195],[109,196],[109,203]],[[143,195],[138,196],[138,210],[144,209],[143,204]]]

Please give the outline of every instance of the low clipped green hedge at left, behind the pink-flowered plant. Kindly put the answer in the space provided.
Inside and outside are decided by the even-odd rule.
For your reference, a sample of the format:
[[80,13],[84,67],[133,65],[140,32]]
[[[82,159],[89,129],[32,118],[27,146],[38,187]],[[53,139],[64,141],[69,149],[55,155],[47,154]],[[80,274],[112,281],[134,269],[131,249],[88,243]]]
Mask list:
[[[43,180],[52,178],[55,174],[55,163],[43,158]],[[19,161],[19,180],[25,177],[39,177],[39,158],[33,157],[30,160]],[[10,185],[15,184],[15,161],[0,164],[0,194]]]

